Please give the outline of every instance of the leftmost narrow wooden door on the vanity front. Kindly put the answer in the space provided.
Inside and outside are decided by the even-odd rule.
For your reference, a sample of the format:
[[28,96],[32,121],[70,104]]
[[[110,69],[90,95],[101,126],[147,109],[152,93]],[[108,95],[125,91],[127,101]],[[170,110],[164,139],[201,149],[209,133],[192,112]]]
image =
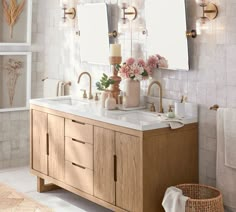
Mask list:
[[47,113],[43,113],[37,110],[32,111],[32,168],[46,175],[48,174],[47,120]]

